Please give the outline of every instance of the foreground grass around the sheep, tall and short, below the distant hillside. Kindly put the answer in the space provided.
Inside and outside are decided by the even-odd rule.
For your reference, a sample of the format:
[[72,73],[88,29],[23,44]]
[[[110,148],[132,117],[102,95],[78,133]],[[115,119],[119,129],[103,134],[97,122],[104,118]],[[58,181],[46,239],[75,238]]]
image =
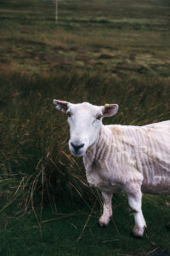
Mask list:
[[111,227],[99,229],[99,194],[88,188],[82,160],[71,157],[65,115],[51,102],[55,95],[66,96],[65,91],[71,102],[117,102],[119,114],[105,123],[144,125],[169,118],[168,80],[143,77],[122,83],[107,74],[60,72],[8,73],[0,81],[1,254],[144,255],[156,248],[169,252],[169,195],[144,196],[149,228],[140,241],[130,236],[133,215],[123,194],[114,195]]

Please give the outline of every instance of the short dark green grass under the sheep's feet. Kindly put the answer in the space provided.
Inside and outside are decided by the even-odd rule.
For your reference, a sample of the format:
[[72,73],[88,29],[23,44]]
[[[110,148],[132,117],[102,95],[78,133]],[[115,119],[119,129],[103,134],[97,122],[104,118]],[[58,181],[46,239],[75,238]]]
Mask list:
[[[144,216],[148,230],[143,239],[134,239],[133,215],[123,195],[114,195],[114,217],[108,228],[99,228],[99,205],[59,206],[58,212],[44,208],[41,230],[31,212],[1,217],[1,255],[169,255],[169,199],[144,196]],[[166,203],[168,202],[168,207]],[[158,211],[159,207],[159,211]],[[15,213],[15,214],[14,214]],[[40,212],[37,212],[38,216]],[[151,253],[153,252],[153,253]],[[167,254],[163,254],[167,252]]]

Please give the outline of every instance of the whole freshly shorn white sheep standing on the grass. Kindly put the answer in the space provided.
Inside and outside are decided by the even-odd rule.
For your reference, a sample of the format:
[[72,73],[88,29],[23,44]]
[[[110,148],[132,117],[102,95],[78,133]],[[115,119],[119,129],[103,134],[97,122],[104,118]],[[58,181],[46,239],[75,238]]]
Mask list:
[[118,105],[58,100],[54,105],[68,115],[71,154],[83,157],[89,185],[101,191],[99,225],[109,224],[112,195],[123,190],[134,211],[133,236],[142,237],[142,193],[170,193],[170,120],[144,126],[103,125],[102,119],[116,114]]

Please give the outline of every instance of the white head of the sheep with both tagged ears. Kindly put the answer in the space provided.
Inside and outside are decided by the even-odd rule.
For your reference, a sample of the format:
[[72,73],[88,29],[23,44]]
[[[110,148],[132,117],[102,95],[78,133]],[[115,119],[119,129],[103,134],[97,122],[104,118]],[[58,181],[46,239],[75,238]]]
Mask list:
[[67,113],[70,126],[69,148],[71,153],[82,156],[98,137],[103,117],[114,115],[118,110],[116,104],[94,106],[88,102],[72,104],[54,100],[57,109]]

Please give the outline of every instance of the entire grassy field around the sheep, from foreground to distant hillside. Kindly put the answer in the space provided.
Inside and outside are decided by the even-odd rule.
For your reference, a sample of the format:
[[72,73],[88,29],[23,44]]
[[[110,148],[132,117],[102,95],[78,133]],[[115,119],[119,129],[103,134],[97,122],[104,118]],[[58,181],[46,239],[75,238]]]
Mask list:
[[167,0],[0,2],[0,255],[170,255],[170,195],[144,195],[148,229],[130,235],[133,212],[113,196],[100,229],[99,192],[68,149],[54,98],[118,103],[105,124],[170,117]]

